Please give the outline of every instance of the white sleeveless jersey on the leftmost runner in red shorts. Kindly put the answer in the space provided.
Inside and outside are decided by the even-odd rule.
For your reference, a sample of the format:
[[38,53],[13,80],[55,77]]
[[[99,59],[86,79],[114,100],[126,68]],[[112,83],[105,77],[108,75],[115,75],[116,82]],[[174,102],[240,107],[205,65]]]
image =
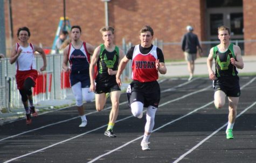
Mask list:
[[22,49],[16,61],[16,69],[19,71],[36,70],[36,60],[34,58],[34,47],[32,43],[29,46],[22,47],[16,43],[16,51]]

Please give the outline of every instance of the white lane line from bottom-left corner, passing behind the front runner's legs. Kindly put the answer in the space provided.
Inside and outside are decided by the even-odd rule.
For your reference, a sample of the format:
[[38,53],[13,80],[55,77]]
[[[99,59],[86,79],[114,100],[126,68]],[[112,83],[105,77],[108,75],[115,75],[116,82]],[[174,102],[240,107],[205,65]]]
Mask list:
[[[206,88],[203,88],[202,90],[206,90],[207,88],[209,88],[209,86],[208,86],[208,87],[206,87]],[[192,95],[192,94],[196,94],[196,93],[202,92],[202,90],[198,90],[198,91],[196,91],[196,92],[189,93],[189,94],[190,94],[190,95]],[[183,95],[182,97],[179,97],[179,98],[177,98],[177,99],[175,99],[175,100],[171,100],[171,102],[181,100],[181,99],[183,99],[183,98],[185,98],[185,97],[188,97],[188,94],[187,94],[187,95]],[[167,103],[170,103],[170,102],[165,102],[165,103],[163,103],[163,104],[162,104],[162,105],[160,105],[160,106],[166,105]],[[133,115],[132,115],[132,116],[128,116],[128,117],[126,117],[126,118],[123,118],[123,119],[121,119],[121,120],[119,120],[119,121],[116,121],[116,123],[117,123],[117,122],[120,122],[120,121],[123,121],[123,120],[126,120],[126,119],[128,119],[128,118],[130,118],[130,117],[133,117]],[[58,143],[52,144],[52,145],[50,145],[50,146],[46,146],[46,147],[44,147],[43,149],[39,149],[39,150],[37,150],[37,151],[33,151],[33,152],[30,152],[30,153],[27,153],[27,154],[24,154],[24,155],[20,155],[19,157],[12,158],[12,159],[7,160],[7,161],[5,161],[5,162],[3,162],[3,163],[7,163],[7,162],[10,162],[10,161],[13,161],[13,160],[17,160],[17,159],[19,159],[19,158],[26,157],[27,155],[30,155],[30,154],[33,154],[33,153],[37,153],[37,152],[43,151],[43,150],[45,150],[45,149],[49,149],[50,147],[53,147],[53,146],[56,146],[56,145],[58,145],[58,144],[61,144],[61,143],[67,142],[67,141],[69,141],[69,140],[72,140],[72,139],[75,139],[75,138],[77,138],[77,137],[83,136],[83,135],[85,135],[85,134],[88,134],[89,132],[96,131],[96,130],[101,129],[101,128],[106,127],[106,126],[107,126],[107,124],[106,124],[106,125],[102,125],[102,126],[101,126],[101,127],[99,127],[99,128],[96,128],[96,129],[93,129],[93,130],[87,131],[87,132],[85,132],[85,133],[83,133],[83,134],[80,134],[80,135],[74,136],[74,137],[72,137],[72,138],[69,138],[69,139],[63,140],[63,141],[61,141],[61,142],[58,142]],[[139,139],[139,138],[138,138],[138,139]],[[102,157],[103,157],[103,156],[102,156]]]

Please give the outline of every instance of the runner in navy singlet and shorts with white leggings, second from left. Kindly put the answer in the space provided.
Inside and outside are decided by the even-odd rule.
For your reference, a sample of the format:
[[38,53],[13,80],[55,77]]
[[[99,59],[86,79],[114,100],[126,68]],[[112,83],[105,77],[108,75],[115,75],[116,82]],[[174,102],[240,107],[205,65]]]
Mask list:
[[[89,63],[94,48],[89,43],[80,40],[81,27],[71,27],[71,43],[64,49],[63,69],[70,72],[70,83],[79,115],[82,123],[79,127],[85,127],[87,124],[85,110],[82,106],[82,100],[92,102],[94,93],[89,91]],[[70,67],[67,62],[70,62]]]

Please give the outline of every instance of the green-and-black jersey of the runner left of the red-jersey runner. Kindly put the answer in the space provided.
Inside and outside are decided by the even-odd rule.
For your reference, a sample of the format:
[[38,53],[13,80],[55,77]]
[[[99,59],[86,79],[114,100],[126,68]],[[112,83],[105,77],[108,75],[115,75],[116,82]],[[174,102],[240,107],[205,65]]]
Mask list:
[[98,65],[98,76],[97,82],[108,82],[115,80],[115,75],[110,76],[108,74],[108,68],[116,71],[119,62],[119,48],[115,46],[114,51],[109,52],[105,49],[104,44],[100,45],[100,56],[97,62]]

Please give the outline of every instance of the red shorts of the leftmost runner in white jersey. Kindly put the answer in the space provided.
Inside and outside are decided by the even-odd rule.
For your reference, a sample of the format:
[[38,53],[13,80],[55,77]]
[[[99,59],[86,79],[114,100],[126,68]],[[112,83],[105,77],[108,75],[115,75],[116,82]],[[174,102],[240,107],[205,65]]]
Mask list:
[[27,70],[27,71],[17,70],[16,82],[17,82],[18,90],[22,90],[26,78],[31,78],[34,81],[34,86],[36,86],[37,77],[38,77],[37,70]]

